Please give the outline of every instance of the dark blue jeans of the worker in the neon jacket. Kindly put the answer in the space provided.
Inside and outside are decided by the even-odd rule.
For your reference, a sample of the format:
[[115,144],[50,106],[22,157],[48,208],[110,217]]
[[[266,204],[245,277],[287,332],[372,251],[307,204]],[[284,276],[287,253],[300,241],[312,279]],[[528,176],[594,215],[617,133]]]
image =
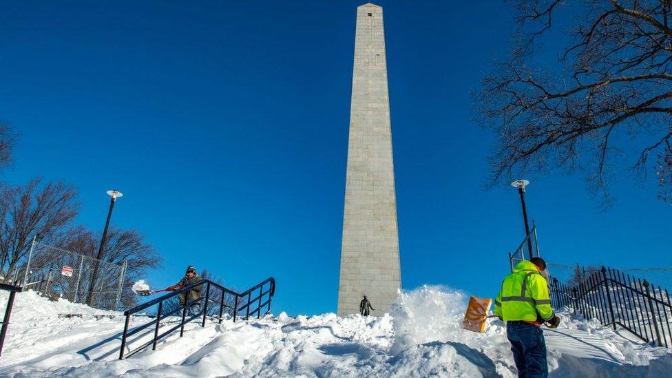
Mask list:
[[527,322],[506,323],[506,336],[518,368],[518,377],[548,377],[546,342],[540,327]]

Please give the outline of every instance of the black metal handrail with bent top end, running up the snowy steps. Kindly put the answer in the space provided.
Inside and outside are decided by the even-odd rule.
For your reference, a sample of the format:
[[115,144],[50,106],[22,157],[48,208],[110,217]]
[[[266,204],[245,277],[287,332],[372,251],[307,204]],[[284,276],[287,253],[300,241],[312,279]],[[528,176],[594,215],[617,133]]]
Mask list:
[[[185,300],[185,304],[183,306],[178,306],[174,308],[173,310],[169,311],[168,313],[163,313],[163,303],[166,300],[170,300],[171,298],[174,298],[182,293],[187,293],[188,291],[191,291],[193,288],[196,288],[197,286],[202,286],[205,285],[205,297],[198,297],[194,300]],[[264,291],[264,287],[268,286],[266,291]],[[219,300],[213,300],[210,297],[210,291],[211,288],[214,287],[221,291],[221,295]],[[252,293],[259,290],[259,295],[257,297],[252,298]],[[185,294],[186,295],[186,294]],[[227,304],[227,295],[230,295],[233,297],[233,306],[230,306]],[[196,319],[197,317],[200,317],[201,314],[198,313],[196,315],[192,315],[191,317],[187,318],[187,309],[189,306],[193,304],[197,304],[201,300],[204,300],[203,309],[202,309],[202,323],[201,326],[205,326],[205,318],[208,316],[208,304],[210,302],[213,302],[215,304],[220,305],[220,311],[219,311],[219,316],[213,318],[219,319],[220,324],[222,323],[222,317],[224,313],[225,308],[229,308],[233,312],[233,322],[235,322],[236,318],[238,317],[238,313],[240,311],[245,310],[245,319],[249,319],[250,315],[254,315],[255,313],[257,314],[257,318],[259,319],[263,315],[266,315],[267,313],[271,312],[271,298],[275,295],[275,279],[273,277],[266,278],[266,280],[256,284],[255,286],[252,286],[248,290],[242,292],[242,293],[237,293],[229,288],[225,288],[224,286],[217,284],[216,282],[212,282],[211,280],[202,280],[193,284],[190,284],[189,286],[185,286],[183,288],[180,288],[176,291],[172,291],[171,293],[162,295],[154,300],[151,300],[149,302],[145,302],[143,304],[138,304],[138,306],[135,306],[133,308],[129,308],[128,310],[124,311],[124,315],[126,317],[125,319],[125,324],[124,324],[124,333],[121,337],[121,348],[119,350],[119,359],[124,359],[124,357],[131,357],[132,355],[140,352],[140,350],[143,350],[147,348],[147,346],[151,345],[152,350],[156,350],[156,344],[166,337],[167,335],[170,335],[174,331],[176,331],[178,328],[180,328],[180,337],[182,337],[185,334],[185,324],[191,322],[191,320]],[[262,303],[262,299],[264,297],[268,297],[268,299]],[[238,307],[238,304],[240,303],[241,298],[245,298],[247,302]],[[258,302],[258,306],[256,308],[251,309],[253,302]],[[151,306],[154,306],[158,304],[158,311],[156,312],[156,317],[152,319],[150,322],[143,324],[142,326],[138,326],[132,330],[129,330],[129,323],[131,320],[131,316],[143,311]],[[262,308],[266,307],[266,312],[263,314],[261,313]],[[182,310],[182,319],[178,324],[175,326],[171,327],[168,330],[165,330],[162,333],[159,333],[160,326],[161,326],[161,320],[165,317],[168,317],[170,315],[174,315],[177,313],[179,310]],[[154,325],[154,337],[149,340],[149,342],[145,342],[144,344],[134,348],[133,350],[129,350],[127,354],[125,354],[125,348],[126,344],[128,341],[128,337],[132,335],[136,335],[139,333],[141,330],[145,330],[149,328],[150,326]]]

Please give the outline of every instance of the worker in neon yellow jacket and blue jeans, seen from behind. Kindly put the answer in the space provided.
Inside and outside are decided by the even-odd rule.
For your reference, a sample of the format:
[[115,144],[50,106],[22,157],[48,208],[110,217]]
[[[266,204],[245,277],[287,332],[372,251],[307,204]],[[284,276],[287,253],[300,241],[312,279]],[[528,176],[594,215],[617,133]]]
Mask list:
[[548,377],[546,342],[540,325],[556,328],[560,318],[551,307],[548,282],[542,275],[545,270],[542,258],[519,262],[504,278],[494,301],[495,314],[506,322],[518,377]]

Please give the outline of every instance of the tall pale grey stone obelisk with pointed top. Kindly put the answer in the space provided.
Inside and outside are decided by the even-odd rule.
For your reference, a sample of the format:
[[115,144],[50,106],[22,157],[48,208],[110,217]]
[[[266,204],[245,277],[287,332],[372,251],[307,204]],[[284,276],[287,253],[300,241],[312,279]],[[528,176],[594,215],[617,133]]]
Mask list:
[[359,313],[366,295],[382,315],[401,272],[383,8],[372,3],[357,8],[345,198],[338,314]]

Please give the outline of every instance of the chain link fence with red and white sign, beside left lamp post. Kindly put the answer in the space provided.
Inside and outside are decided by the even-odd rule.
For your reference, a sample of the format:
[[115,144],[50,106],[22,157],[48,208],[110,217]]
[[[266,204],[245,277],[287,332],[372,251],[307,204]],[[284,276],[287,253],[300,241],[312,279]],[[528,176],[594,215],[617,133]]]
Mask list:
[[33,241],[14,282],[54,299],[116,310],[126,267],[126,262],[114,264]]

